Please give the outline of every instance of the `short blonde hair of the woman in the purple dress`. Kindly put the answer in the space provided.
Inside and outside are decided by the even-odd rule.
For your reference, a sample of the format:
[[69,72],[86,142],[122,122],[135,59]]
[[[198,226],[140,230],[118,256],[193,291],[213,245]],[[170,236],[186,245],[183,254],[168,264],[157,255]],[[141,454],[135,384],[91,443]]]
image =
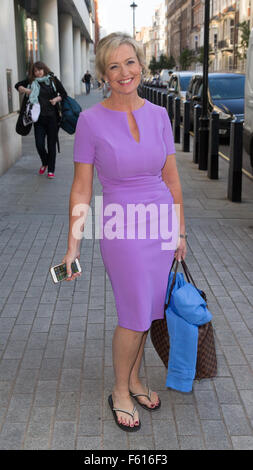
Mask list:
[[146,72],[147,67],[145,63],[144,51],[142,45],[136,41],[132,36],[126,33],[111,33],[101,39],[97,45],[96,50],[96,75],[100,80],[104,78],[106,73],[106,66],[111,53],[122,44],[129,44],[133,47],[137,59],[142,66],[142,70]]

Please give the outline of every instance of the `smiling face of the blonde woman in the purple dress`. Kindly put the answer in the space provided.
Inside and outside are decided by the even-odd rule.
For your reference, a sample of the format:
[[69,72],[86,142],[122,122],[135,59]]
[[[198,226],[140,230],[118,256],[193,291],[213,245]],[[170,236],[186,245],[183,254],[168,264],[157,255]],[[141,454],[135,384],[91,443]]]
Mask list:
[[142,66],[133,46],[122,44],[109,56],[105,79],[112,92],[130,94],[137,90],[141,79]]

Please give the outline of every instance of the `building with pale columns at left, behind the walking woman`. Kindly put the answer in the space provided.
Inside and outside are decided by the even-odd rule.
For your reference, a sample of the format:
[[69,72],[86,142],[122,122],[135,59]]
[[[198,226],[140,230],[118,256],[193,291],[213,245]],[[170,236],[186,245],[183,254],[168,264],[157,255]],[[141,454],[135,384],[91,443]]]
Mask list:
[[83,92],[81,78],[94,63],[94,11],[93,0],[1,0],[0,174],[22,153],[14,84],[42,60],[70,96]]

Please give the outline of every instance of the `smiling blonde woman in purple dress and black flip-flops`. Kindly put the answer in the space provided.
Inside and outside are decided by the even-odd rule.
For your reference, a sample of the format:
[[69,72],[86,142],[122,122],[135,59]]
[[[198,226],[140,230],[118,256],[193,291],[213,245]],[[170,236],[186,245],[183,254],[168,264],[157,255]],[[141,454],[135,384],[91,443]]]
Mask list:
[[[151,323],[164,315],[173,258],[186,256],[182,190],[167,111],[137,93],[145,69],[140,44],[126,34],[110,34],[99,42],[96,67],[111,95],[79,117],[63,261],[68,280],[74,279],[70,266],[80,256],[80,240],[73,230],[78,216],[72,213],[76,205],[90,204],[95,165],[103,187],[100,249],[118,314],[115,384],[108,401],[116,424],[137,431],[141,423],[132,398],[150,411],[161,405],[157,393],[142,384],[139,371]],[[174,217],[173,204],[180,217]]]

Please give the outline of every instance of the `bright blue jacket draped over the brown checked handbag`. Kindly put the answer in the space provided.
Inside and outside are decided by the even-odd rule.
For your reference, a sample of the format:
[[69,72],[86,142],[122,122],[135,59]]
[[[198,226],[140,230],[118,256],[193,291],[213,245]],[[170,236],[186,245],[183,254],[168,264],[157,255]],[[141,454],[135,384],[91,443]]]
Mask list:
[[[171,272],[166,304],[173,278],[174,272]],[[181,392],[191,392],[196,374],[198,326],[210,322],[211,319],[212,315],[201,296],[201,291],[186,282],[182,273],[177,273],[169,306],[166,308],[170,338],[167,387]]]

